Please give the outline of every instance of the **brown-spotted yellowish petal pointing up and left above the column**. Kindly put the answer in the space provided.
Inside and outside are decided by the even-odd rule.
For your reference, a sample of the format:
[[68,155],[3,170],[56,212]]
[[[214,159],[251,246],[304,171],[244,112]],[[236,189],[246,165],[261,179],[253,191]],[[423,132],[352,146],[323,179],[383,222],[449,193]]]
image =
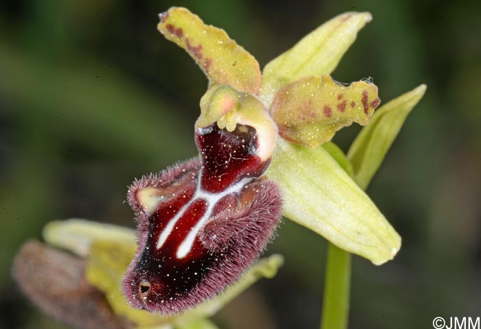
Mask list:
[[257,60],[223,29],[205,25],[186,8],[173,7],[159,17],[161,34],[186,49],[212,84],[229,84],[257,95],[261,84]]

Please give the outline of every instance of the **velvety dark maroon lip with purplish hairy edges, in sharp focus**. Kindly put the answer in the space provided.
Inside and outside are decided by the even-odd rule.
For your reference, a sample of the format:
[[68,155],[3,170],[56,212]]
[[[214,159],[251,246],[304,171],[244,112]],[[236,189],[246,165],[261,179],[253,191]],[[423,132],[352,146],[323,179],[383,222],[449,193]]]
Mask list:
[[253,127],[198,128],[201,160],[137,180],[128,202],[139,223],[139,247],[126,276],[131,304],[179,313],[223,291],[258,258],[282,210],[275,183],[261,178]]

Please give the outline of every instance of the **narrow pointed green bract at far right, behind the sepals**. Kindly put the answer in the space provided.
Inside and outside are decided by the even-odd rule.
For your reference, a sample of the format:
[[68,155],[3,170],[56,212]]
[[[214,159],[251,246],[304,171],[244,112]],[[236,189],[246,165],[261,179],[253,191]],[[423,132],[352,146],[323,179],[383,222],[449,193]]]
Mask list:
[[355,181],[366,189],[372,176],[396,138],[407,114],[426,91],[425,84],[381,106],[372,116],[370,125],[363,127],[348,151],[353,164]]

